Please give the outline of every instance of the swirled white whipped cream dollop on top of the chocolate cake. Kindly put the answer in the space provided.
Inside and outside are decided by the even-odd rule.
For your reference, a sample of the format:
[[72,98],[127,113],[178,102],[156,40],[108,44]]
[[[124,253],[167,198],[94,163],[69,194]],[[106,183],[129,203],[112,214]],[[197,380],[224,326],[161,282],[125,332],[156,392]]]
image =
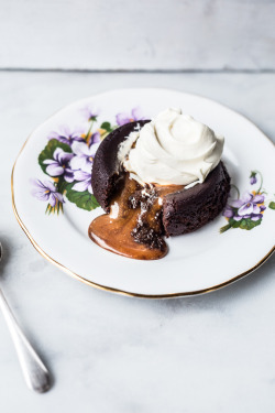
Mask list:
[[206,124],[166,109],[140,130],[130,133],[118,159],[140,184],[202,183],[220,162],[224,138]]

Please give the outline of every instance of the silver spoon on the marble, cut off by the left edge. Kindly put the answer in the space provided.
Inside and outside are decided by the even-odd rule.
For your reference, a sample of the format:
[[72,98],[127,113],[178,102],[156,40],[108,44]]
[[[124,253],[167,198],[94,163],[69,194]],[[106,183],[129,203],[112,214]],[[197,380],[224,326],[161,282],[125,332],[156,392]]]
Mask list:
[[[2,256],[3,250],[2,244],[0,243],[0,261]],[[19,327],[1,289],[0,308],[2,309],[3,316],[11,333],[28,387],[38,393],[46,392],[50,389],[48,371]]]

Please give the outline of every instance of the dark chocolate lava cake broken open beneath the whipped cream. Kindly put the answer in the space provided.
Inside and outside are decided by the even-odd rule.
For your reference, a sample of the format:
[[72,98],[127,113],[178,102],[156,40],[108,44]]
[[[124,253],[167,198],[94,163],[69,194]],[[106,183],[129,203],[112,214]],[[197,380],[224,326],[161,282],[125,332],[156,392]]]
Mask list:
[[[129,134],[150,120],[123,124],[101,142],[94,160],[91,184],[94,195],[107,214],[110,213],[113,199],[118,199],[118,194],[123,194],[124,207],[129,210],[139,209],[130,231],[134,242],[147,249],[164,251],[166,242],[163,236],[195,231],[222,211],[230,191],[230,177],[224,164],[219,162],[202,184],[187,189],[182,185],[141,186],[119,164],[118,152]],[[131,188],[125,192],[125,186],[129,185]]]

